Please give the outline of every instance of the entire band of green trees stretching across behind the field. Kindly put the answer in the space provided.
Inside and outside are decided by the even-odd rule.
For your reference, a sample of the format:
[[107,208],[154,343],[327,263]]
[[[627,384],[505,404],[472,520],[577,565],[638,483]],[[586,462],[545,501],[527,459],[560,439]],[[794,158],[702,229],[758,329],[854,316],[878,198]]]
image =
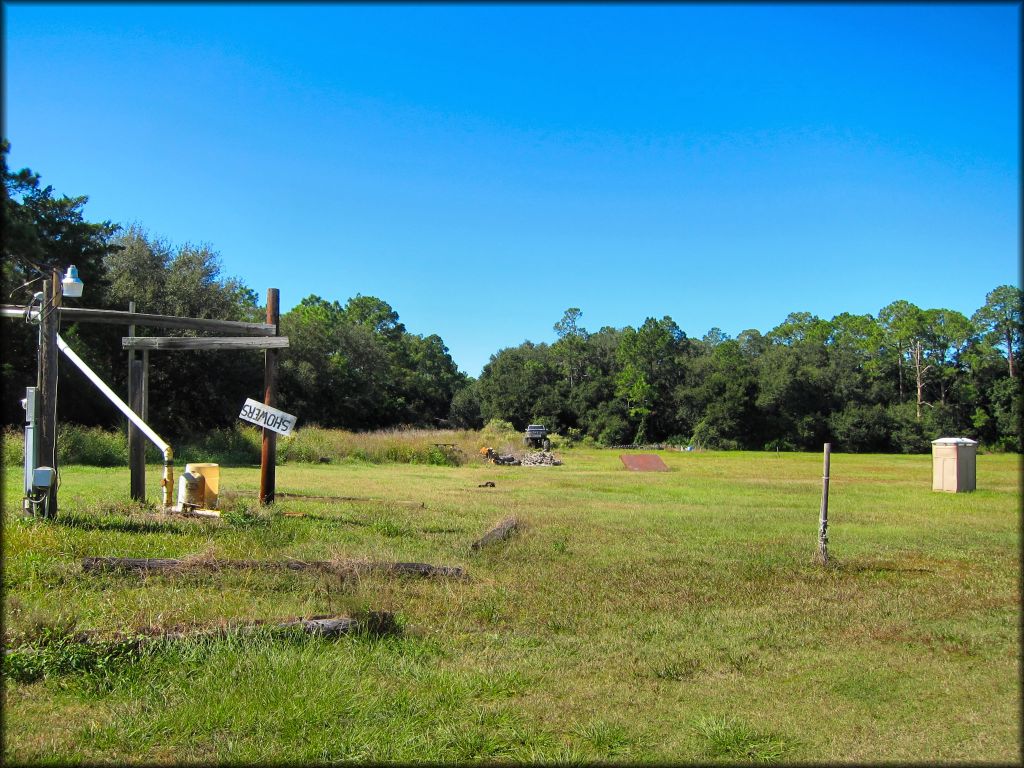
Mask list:
[[[173,245],[139,224],[89,222],[85,197],[57,196],[30,171],[11,171],[3,142],[4,263],[8,302],[26,303],[52,267],[78,265],[90,307],[258,322],[260,297],[225,276],[209,245]],[[999,286],[971,316],[894,301],[878,315],[790,314],[778,327],[729,338],[688,337],[669,316],[588,332],[567,309],[553,343],[492,355],[478,379],[460,372],[442,339],[410,333],[386,301],[344,304],[309,295],[284,313],[291,340],[280,365],[280,407],[304,423],[366,430],[399,425],[517,428],[544,423],[604,444],[673,441],[715,449],[920,452],[940,435],[1021,450],[1021,301]],[[5,424],[35,381],[36,329],[5,321]],[[137,329],[139,335],[195,335]],[[127,389],[124,329],[65,324],[61,335],[116,390]],[[193,435],[237,422],[262,390],[262,354],[152,353],[150,422]],[[114,426],[120,417],[61,361],[58,418]]]

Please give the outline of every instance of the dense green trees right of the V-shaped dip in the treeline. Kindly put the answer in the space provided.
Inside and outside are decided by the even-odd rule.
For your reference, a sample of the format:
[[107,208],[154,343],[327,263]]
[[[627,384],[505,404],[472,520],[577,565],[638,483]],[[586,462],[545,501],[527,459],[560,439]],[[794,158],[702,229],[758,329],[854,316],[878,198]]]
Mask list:
[[[791,313],[762,335],[691,339],[671,317],[590,334],[572,307],[553,344],[493,355],[460,392],[472,424],[540,421],[606,444],[927,451],[940,435],[1021,449],[1020,289],[1000,286],[971,318],[894,301],[877,317]],[[470,404],[475,406],[474,413]]]

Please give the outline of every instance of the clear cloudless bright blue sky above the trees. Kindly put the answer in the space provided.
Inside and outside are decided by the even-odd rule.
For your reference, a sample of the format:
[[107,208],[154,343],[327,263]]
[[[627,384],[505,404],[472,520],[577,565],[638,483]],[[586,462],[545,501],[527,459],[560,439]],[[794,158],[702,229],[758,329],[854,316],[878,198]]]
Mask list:
[[570,306],[735,336],[1019,284],[1017,4],[3,10],[11,166],[473,376]]

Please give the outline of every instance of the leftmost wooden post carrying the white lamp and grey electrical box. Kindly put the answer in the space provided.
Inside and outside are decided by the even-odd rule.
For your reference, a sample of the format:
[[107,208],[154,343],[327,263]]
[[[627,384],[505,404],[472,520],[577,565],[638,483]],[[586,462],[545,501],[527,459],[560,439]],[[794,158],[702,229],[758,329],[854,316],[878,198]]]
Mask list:
[[57,332],[60,328],[60,271],[43,281],[39,333],[39,463],[53,467],[46,514],[57,515]]

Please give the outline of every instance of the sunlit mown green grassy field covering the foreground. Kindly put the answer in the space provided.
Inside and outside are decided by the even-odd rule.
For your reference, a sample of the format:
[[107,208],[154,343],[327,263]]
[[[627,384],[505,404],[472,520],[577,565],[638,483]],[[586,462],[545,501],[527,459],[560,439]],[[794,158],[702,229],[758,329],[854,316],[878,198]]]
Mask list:
[[[662,453],[672,471],[640,474],[618,453],[288,464],[279,490],[373,501],[272,513],[246,501],[258,469],[224,467],[219,522],[133,508],[127,470],[87,467],[62,471],[61,519],[25,520],[8,470],[5,644],[37,663],[5,667],[5,757],[1020,762],[1018,457],[979,457],[979,490],[952,495],[931,490],[928,456],[834,455],[826,568],[819,455]],[[510,514],[521,534],[470,549]],[[90,555],[412,560],[470,578],[140,578],[84,573]],[[365,609],[394,611],[401,634],[123,657],[61,640]]]

